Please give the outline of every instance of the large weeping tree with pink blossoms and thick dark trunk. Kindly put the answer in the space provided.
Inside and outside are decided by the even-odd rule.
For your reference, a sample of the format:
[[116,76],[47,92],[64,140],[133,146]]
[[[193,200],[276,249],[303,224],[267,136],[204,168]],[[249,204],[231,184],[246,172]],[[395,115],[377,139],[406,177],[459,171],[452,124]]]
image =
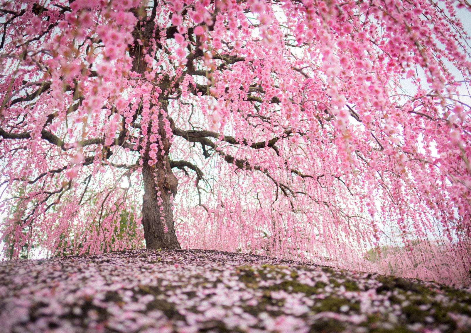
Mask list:
[[[0,8],[11,257],[142,237],[147,248],[309,257],[322,244],[340,256],[379,246],[386,222],[406,246],[471,236],[464,0]],[[123,216],[143,235],[126,236]]]

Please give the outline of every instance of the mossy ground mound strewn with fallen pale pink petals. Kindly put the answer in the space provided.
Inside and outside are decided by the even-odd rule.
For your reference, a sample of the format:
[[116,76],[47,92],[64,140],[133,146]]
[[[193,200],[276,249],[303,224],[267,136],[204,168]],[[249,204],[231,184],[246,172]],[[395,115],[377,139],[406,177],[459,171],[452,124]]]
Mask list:
[[0,262],[0,332],[471,332],[471,291],[210,250]]

